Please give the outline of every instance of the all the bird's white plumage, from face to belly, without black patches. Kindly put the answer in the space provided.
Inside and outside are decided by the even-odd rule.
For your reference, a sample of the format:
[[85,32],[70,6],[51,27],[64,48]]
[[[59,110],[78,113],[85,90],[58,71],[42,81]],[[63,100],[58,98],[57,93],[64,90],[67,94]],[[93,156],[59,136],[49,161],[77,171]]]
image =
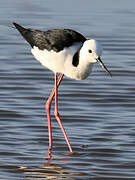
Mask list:
[[[54,73],[62,73],[70,78],[82,80],[87,78],[92,70],[93,63],[96,62],[95,58],[98,56],[98,42],[95,40],[87,40],[82,43],[75,43],[71,47],[64,48],[60,52],[53,50],[40,50],[34,46],[31,50],[34,57],[45,67],[52,70]],[[82,47],[81,47],[82,46]],[[73,56],[80,50],[79,64],[75,67],[72,64]],[[90,55],[88,50],[93,50],[93,54]]]

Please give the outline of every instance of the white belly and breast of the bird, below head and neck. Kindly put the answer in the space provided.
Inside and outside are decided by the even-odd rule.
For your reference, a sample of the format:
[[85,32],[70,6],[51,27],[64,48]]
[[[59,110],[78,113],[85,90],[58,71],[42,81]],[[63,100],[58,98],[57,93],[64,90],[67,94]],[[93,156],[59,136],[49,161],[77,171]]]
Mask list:
[[55,73],[62,73],[67,77],[82,80],[85,79],[91,72],[92,65],[87,62],[81,62],[77,67],[73,66],[73,56],[77,50],[82,46],[82,43],[75,43],[73,46],[64,48],[60,52],[53,50],[40,50],[34,46],[31,49],[34,57],[45,67]]

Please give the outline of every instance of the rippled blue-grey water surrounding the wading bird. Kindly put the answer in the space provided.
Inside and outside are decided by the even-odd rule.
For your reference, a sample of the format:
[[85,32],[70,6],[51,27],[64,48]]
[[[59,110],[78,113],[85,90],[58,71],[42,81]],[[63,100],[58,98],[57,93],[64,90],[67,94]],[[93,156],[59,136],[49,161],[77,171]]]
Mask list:
[[[129,3],[130,2],[130,3]],[[0,6],[0,179],[135,179],[135,2],[5,0]],[[34,60],[15,21],[35,29],[72,28],[104,47],[84,81],[64,78],[59,109],[74,154],[52,106],[53,157],[46,161],[44,109],[53,73]]]

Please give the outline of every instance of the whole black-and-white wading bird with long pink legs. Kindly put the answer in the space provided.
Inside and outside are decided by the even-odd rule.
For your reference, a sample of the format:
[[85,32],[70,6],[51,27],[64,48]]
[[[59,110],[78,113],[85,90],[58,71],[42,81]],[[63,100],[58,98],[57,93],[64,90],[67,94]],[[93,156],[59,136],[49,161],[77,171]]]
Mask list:
[[48,158],[52,158],[52,126],[51,126],[51,103],[55,98],[55,118],[63,132],[69,151],[73,149],[60,119],[58,112],[58,87],[67,76],[75,80],[86,79],[93,68],[93,64],[99,63],[102,68],[112,76],[101,61],[102,45],[98,40],[87,39],[81,33],[72,29],[50,29],[46,31],[24,28],[13,22],[15,28],[30,44],[31,53],[37,61],[54,73],[54,88],[46,101],[45,108],[48,119],[49,148]]

